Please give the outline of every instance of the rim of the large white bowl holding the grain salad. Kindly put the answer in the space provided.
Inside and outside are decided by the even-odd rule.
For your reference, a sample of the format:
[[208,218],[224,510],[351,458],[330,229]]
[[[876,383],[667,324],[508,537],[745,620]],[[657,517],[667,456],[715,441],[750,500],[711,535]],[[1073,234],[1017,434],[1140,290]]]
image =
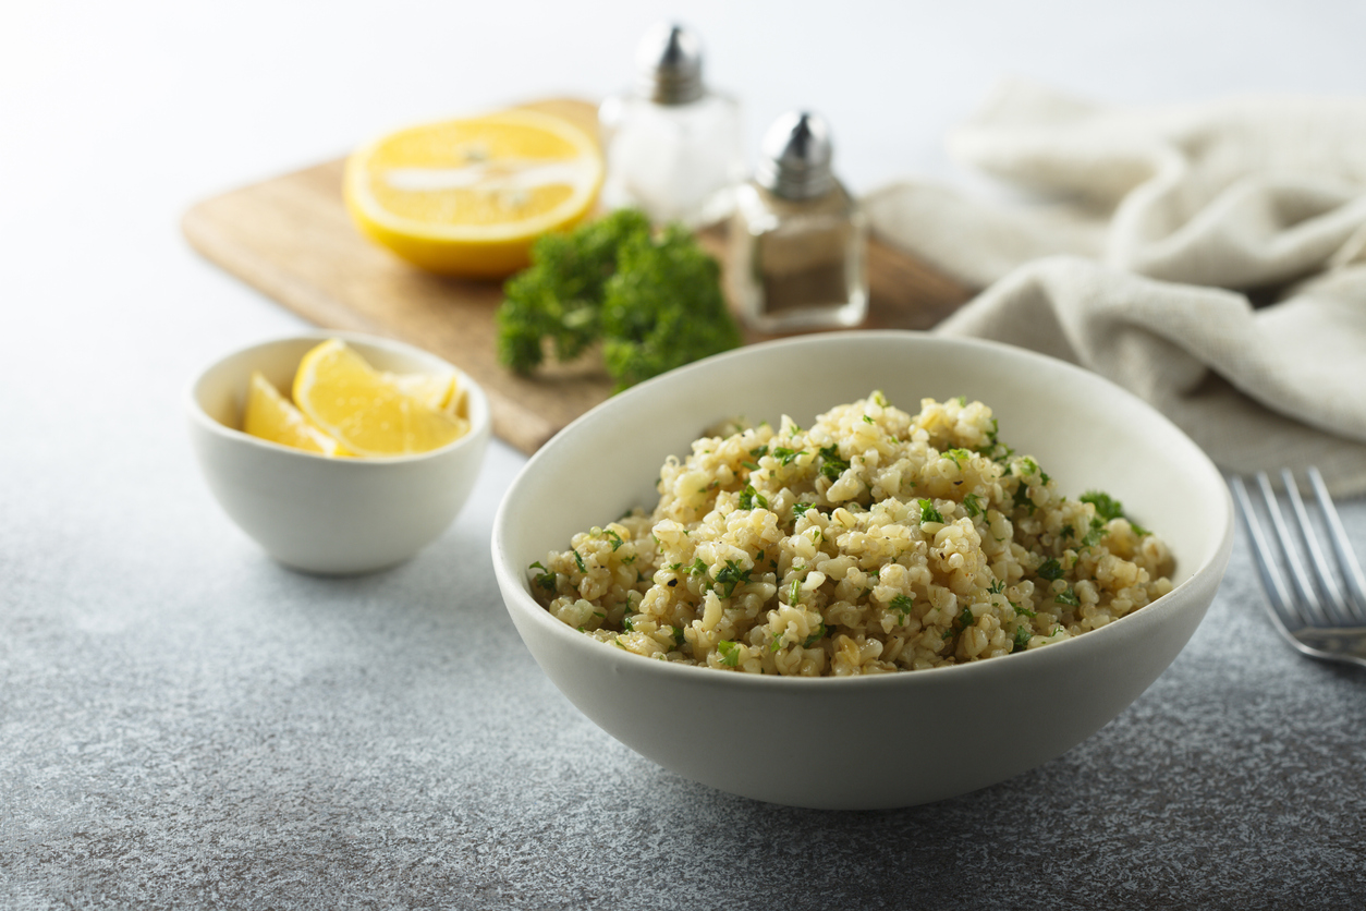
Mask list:
[[[996,352],[1009,352],[1011,356],[1024,356],[1029,359],[1037,359],[1040,362],[1048,362],[1049,365],[1060,365],[1065,370],[1075,372],[1079,376],[1087,377],[1089,381],[1098,381],[1102,385],[1109,387],[1113,392],[1128,397],[1131,402],[1142,406],[1146,411],[1152,412],[1154,418],[1165,422],[1171,430],[1180,434],[1180,437],[1190,445],[1191,453],[1197,456],[1197,470],[1206,475],[1206,481],[1217,483],[1217,488],[1223,492],[1220,497],[1223,503],[1223,523],[1218,541],[1216,546],[1209,552],[1209,556],[1198,565],[1195,570],[1179,585],[1176,585],[1169,593],[1157,598],[1142,609],[1135,611],[1130,615],[1120,617],[1119,620],[1109,623],[1098,630],[1091,630],[1085,635],[1072,636],[1063,642],[1052,643],[1041,649],[1030,649],[1027,651],[1001,656],[1001,658],[1009,658],[1009,661],[1003,660],[984,660],[984,661],[970,661],[967,664],[955,664],[943,668],[926,668],[923,671],[899,671],[888,673],[874,673],[874,675],[856,675],[848,677],[840,676],[820,676],[820,677],[800,677],[800,676],[784,676],[784,675],[761,675],[761,673],[724,673],[717,672],[714,668],[679,664],[673,661],[663,661],[658,658],[646,658],[643,656],[626,651],[623,649],[608,647],[608,643],[598,642],[576,630],[571,630],[561,620],[550,616],[549,611],[541,606],[530,593],[530,583],[523,578],[523,572],[512,565],[511,548],[507,546],[507,529],[510,524],[508,511],[510,504],[514,500],[514,492],[518,489],[519,482],[525,475],[537,470],[537,466],[542,460],[550,460],[555,458],[553,447],[556,440],[568,434],[575,428],[591,422],[597,414],[620,396],[638,396],[643,395],[642,391],[647,391],[661,382],[683,382],[684,378],[697,370],[706,370],[710,365],[721,361],[753,356],[754,352],[759,350],[772,348],[798,348],[805,346],[820,346],[826,344],[833,340],[840,341],[858,341],[861,337],[866,339],[887,339],[893,336],[902,336],[907,339],[934,339],[937,343],[951,343],[955,346],[962,346],[970,350],[981,351],[996,351]],[[634,673],[682,673],[686,675],[680,680],[691,680],[693,684],[705,683],[712,680],[713,686],[742,686],[742,687],[887,687],[887,686],[917,686],[917,687],[933,687],[933,686],[947,686],[956,680],[963,680],[968,675],[977,676],[992,676],[1001,673],[1015,673],[1014,669],[1023,667],[1041,668],[1045,662],[1065,661],[1071,656],[1078,654],[1081,649],[1096,649],[1100,647],[1116,636],[1132,638],[1142,635],[1143,630],[1160,626],[1171,615],[1182,611],[1187,605],[1183,604],[1183,598],[1177,597],[1180,593],[1191,590],[1198,585],[1208,583],[1209,576],[1214,572],[1223,575],[1223,570],[1227,568],[1229,555],[1233,545],[1233,501],[1228,492],[1228,485],[1224,483],[1223,474],[1210,460],[1209,455],[1190,438],[1190,436],[1177,428],[1171,418],[1161,414],[1152,404],[1130,392],[1128,389],[1120,387],[1115,381],[1104,377],[1093,370],[1086,370],[1078,365],[1053,358],[1030,348],[1022,348],[1019,346],[1011,346],[1001,341],[994,341],[989,339],[975,339],[975,337],[949,337],[949,336],[936,336],[928,332],[918,332],[910,329],[865,329],[852,332],[839,332],[839,333],[813,333],[787,339],[776,339],[770,341],[762,341],[753,346],[744,346],[742,348],[735,348],[725,351],[709,358],[703,358],[690,365],[684,365],[676,370],[667,374],[653,377],[641,382],[624,392],[617,393],[613,399],[600,403],[593,407],[559,433],[555,434],[545,445],[542,445],[522,467],[510,485],[503,501],[499,504],[499,509],[493,519],[493,533],[490,537],[492,557],[493,557],[493,571],[499,580],[499,587],[503,591],[503,600],[507,605],[510,613],[514,615],[514,620],[520,615],[529,621],[537,624],[540,628],[548,631],[548,634],[556,638],[559,642],[564,643],[567,649],[571,650],[574,656],[582,656],[586,661],[605,662],[615,672],[634,672]],[[514,613],[515,612],[515,613]],[[1097,638],[1100,636],[1100,638]],[[1090,643],[1090,645],[1085,645]],[[626,662],[626,664],[623,664]],[[1031,662],[1026,665],[1024,662]],[[1004,667],[1003,667],[1004,665]],[[650,668],[654,668],[653,671]],[[703,676],[695,676],[703,675]],[[727,682],[731,682],[729,684]],[[740,682],[743,680],[743,683]],[[907,683],[907,680],[915,680],[918,683]]]

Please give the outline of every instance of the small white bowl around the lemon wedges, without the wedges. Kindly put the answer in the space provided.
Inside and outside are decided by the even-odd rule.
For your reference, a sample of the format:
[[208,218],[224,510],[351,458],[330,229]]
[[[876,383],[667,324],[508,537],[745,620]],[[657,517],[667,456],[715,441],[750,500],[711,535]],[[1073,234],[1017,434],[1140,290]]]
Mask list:
[[[288,389],[303,354],[326,339],[346,340],[380,370],[456,372],[469,393],[470,432],[432,452],[387,459],[329,459],[242,433],[251,372]],[[186,411],[223,509],[280,563],[328,575],[382,570],[434,541],[474,489],[489,441],[489,403],[469,376],[410,344],[346,332],[235,351],[190,384]]]

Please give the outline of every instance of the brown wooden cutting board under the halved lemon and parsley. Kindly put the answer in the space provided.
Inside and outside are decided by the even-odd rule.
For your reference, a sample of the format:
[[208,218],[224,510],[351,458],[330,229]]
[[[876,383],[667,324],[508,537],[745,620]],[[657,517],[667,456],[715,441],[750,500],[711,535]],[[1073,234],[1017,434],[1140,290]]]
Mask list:
[[[596,108],[555,100],[525,105],[596,132]],[[552,365],[519,377],[497,363],[493,311],[501,283],[426,275],[362,238],[342,202],[343,160],[232,190],[191,208],[190,244],[269,298],[326,328],[388,336],[455,363],[489,396],[493,432],[535,452],[611,393],[601,366]],[[699,235],[725,268],[724,228]],[[928,329],[968,291],[877,239],[869,247],[869,320],[863,328]],[[750,333],[747,341],[759,341]]]

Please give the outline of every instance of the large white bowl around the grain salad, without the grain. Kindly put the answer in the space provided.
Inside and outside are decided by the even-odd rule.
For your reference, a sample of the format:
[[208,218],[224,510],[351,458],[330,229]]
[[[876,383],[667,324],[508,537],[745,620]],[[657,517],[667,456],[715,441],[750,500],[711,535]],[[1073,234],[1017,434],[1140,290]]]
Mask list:
[[[809,426],[881,389],[990,406],[1001,438],[1060,489],[1102,489],[1160,533],[1176,587],[1142,611],[1042,649],[852,679],[729,673],[608,647],[552,617],[527,567],[635,505],[652,508],[668,455],[743,415]],[[1115,718],[1172,662],[1214,597],[1232,549],[1218,470],[1161,414],[1115,384],[1001,344],[852,332],[719,355],[583,415],[525,467],[499,508],[493,567],[533,657],[604,731],[721,791],[803,807],[887,809],[948,798],[1031,769]]]

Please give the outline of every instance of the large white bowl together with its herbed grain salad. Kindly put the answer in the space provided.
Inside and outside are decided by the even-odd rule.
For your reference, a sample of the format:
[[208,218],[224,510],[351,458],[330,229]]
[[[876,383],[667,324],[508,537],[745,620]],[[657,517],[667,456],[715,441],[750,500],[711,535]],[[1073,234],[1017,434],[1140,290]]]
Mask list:
[[1109,381],[851,332],[645,382],[550,440],[493,530],[550,680],[639,754],[773,803],[885,809],[1078,744],[1228,564],[1217,468]]

